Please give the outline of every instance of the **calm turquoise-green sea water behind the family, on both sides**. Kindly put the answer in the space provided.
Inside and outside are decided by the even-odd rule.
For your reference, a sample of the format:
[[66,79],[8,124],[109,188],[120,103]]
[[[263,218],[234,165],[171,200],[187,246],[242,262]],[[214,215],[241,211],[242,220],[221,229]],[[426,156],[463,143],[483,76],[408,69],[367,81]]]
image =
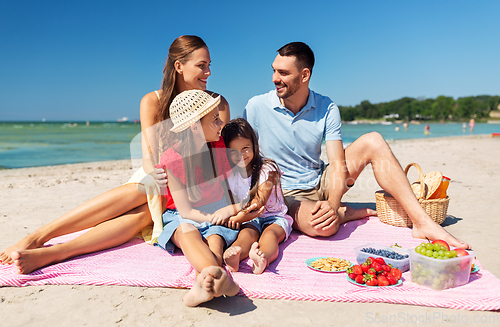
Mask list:
[[[344,145],[379,132],[386,140],[500,133],[500,124],[476,123],[473,133],[462,123],[343,124]],[[0,169],[140,158],[139,123],[0,122]]]

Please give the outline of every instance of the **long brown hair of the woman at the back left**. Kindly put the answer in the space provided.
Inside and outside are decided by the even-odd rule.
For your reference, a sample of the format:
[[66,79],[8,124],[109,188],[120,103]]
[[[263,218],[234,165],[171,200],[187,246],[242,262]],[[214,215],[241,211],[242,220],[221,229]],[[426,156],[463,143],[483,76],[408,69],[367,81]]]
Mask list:
[[176,61],[186,63],[191,54],[201,48],[208,48],[205,42],[195,35],[181,35],[172,42],[168,49],[167,62],[163,68],[162,94],[160,98],[160,110],[158,110],[155,123],[170,118],[170,104],[178,94],[175,88],[177,72],[174,64]]

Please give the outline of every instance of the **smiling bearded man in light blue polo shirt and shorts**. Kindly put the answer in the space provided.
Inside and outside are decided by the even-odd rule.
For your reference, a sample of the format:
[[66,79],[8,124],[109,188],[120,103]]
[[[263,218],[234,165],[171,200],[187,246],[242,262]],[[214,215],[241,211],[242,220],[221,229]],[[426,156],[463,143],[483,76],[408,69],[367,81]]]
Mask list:
[[[341,202],[361,171],[372,164],[378,184],[412,220],[413,237],[468,248],[427,215],[380,134],[365,134],[344,150],[337,106],[309,89],[313,66],[314,53],[305,43],[283,46],[272,64],[276,89],[250,99],[243,112],[259,136],[264,156],[274,159],[284,172],[283,194],[294,228],[310,236],[330,236],[347,221],[376,215],[374,210]],[[326,166],[320,159],[322,140]]]

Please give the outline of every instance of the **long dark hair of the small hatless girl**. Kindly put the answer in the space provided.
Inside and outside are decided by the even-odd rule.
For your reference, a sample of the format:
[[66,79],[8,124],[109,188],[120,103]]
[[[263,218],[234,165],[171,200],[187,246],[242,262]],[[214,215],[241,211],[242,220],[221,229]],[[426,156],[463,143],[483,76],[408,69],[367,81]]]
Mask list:
[[[222,129],[222,138],[224,139],[224,144],[226,145],[226,148],[229,148],[229,143],[234,140],[237,137],[249,139],[252,141],[252,147],[253,147],[253,159],[251,162],[252,165],[252,179],[250,182],[250,191],[248,193],[249,198],[246,206],[250,205],[250,202],[258,197],[258,181],[260,177],[260,171],[262,169],[262,166],[264,164],[271,165],[273,169],[277,172],[277,178],[276,178],[276,189],[275,191],[277,192],[277,188],[281,187],[280,183],[280,169],[278,167],[278,164],[271,159],[264,158],[260,154],[259,151],[259,140],[257,138],[257,134],[255,134],[255,131],[253,130],[252,126],[250,125],[249,122],[247,122],[243,118],[236,118],[233,120],[230,120]],[[229,160],[231,166],[233,167],[234,164]],[[234,168],[234,167],[233,167]],[[277,194],[276,194],[277,195]],[[263,203],[263,199],[258,198],[258,200],[261,202],[262,205],[266,205]]]

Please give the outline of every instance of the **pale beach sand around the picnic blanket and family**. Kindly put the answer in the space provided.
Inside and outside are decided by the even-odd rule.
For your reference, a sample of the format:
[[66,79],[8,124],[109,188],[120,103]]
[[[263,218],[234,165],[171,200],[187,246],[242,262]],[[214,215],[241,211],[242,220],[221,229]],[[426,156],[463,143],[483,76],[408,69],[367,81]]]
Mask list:
[[[424,173],[451,178],[446,230],[468,242],[483,269],[500,278],[500,137],[470,135],[389,144],[403,168],[418,163]],[[89,199],[125,183],[130,160],[0,170],[0,248]],[[417,179],[410,170],[409,179]],[[344,202],[375,208],[379,189],[367,167]],[[46,285],[0,288],[2,326],[493,326],[500,313],[385,303],[262,300],[236,296],[185,307],[186,290],[126,286]],[[453,323],[455,320],[455,323]]]

